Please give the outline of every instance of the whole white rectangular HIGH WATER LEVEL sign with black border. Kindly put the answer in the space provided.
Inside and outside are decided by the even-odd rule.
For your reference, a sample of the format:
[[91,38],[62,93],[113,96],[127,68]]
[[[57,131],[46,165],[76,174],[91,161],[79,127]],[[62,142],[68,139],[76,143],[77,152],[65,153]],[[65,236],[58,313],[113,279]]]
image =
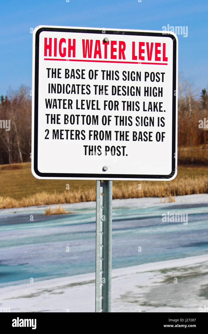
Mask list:
[[177,44],[172,32],[35,28],[33,175],[175,178]]

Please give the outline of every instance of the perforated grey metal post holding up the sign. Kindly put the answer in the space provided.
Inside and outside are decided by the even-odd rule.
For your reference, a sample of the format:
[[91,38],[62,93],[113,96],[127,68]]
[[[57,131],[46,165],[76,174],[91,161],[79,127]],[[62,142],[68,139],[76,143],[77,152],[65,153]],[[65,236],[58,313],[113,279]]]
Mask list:
[[111,312],[112,181],[96,181],[95,312]]

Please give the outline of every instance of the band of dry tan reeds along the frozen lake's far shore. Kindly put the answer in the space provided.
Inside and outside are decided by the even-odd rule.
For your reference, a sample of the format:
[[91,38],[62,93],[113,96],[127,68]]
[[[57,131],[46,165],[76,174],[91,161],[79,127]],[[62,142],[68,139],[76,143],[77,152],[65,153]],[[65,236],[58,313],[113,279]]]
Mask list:
[[[113,185],[113,199],[140,197],[172,197],[208,192],[208,176],[187,177],[173,181],[158,182],[140,181],[142,189],[138,190],[138,182],[126,185]],[[50,205],[95,201],[95,189],[65,191],[63,193],[41,192],[16,200],[12,197],[0,196],[0,209],[26,207],[33,205]],[[169,199],[171,201],[171,199]]]

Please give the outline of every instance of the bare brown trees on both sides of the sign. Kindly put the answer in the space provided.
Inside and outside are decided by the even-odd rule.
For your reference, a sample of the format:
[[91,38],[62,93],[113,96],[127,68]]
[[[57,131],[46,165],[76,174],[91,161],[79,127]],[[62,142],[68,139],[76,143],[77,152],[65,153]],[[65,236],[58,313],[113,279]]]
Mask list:
[[[0,164],[28,162],[31,158],[31,93],[22,85],[9,89],[0,101]],[[208,120],[208,92],[198,94],[194,85],[179,75],[178,87],[178,146],[196,147],[208,142],[206,129],[199,120]],[[4,121],[10,120],[10,124]],[[8,128],[5,128],[5,125]],[[10,129],[9,129],[10,127]],[[206,127],[205,127],[206,128]]]

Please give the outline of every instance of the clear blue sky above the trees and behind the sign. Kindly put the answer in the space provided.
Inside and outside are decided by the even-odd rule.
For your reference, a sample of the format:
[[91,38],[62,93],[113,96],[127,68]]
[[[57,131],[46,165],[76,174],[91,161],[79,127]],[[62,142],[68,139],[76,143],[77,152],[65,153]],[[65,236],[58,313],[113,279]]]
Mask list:
[[0,95],[31,87],[32,34],[37,25],[162,30],[188,26],[178,35],[179,71],[201,91],[208,86],[208,3],[205,0],[1,0]]

